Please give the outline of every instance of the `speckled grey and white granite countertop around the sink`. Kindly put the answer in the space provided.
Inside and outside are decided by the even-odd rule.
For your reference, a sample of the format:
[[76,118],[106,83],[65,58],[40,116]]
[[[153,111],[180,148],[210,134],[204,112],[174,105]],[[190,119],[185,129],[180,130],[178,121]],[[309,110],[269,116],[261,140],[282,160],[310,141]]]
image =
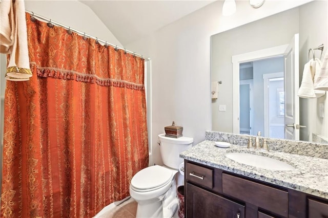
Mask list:
[[[289,163],[296,169],[269,170],[233,161],[225,155],[229,152],[247,152],[271,157]],[[180,157],[196,163],[212,166],[245,177],[264,181],[328,199],[328,159],[301,156],[279,151],[249,149],[231,145],[219,148],[214,141],[205,140],[183,151]]]

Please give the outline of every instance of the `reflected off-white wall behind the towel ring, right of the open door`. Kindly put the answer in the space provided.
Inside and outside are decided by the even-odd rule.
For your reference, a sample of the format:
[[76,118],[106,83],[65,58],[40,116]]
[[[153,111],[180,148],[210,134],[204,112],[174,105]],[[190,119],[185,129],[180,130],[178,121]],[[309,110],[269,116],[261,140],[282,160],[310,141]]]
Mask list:
[[[309,8],[310,7],[310,8]],[[309,61],[308,51],[322,43],[324,54],[328,51],[328,1],[316,1],[300,7],[299,10],[299,43],[300,43],[300,79],[303,75],[304,64]],[[314,20],[317,20],[314,23]],[[320,51],[315,51],[319,58]],[[311,55],[312,57],[312,55]],[[324,117],[319,116],[319,104],[324,104]],[[300,124],[308,128],[300,129],[300,140],[312,140],[312,132],[328,137],[328,100],[327,95],[316,99],[300,98]],[[311,129],[311,131],[309,130]]]

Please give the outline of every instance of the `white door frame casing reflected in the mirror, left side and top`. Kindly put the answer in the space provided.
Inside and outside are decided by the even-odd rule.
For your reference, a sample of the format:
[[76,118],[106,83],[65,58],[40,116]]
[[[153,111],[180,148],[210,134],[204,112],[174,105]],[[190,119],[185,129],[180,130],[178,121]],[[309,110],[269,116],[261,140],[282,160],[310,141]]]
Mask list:
[[239,134],[239,64],[264,58],[277,57],[284,54],[289,44],[261,49],[253,52],[233,55],[232,62],[232,108],[233,108],[233,133]]

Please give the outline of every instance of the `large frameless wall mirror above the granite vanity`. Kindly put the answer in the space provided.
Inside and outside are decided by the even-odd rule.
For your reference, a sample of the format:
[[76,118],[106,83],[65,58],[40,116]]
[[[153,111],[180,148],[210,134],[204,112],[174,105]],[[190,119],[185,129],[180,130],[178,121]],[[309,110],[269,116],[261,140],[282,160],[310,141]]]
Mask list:
[[[328,105],[326,95],[295,98],[298,102],[294,104],[285,91],[291,93],[299,86],[309,49],[324,44],[323,54],[326,52],[327,4],[313,1],[211,36],[211,82],[221,82],[217,98],[212,98],[212,130],[250,135],[260,131],[270,138],[325,142],[328,116],[324,115],[328,113],[322,111]],[[311,20],[320,20],[320,24]],[[286,56],[293,43],[298,48]],[[320,57],[321,51],[315,53]],[[292,62],[297,56],[298,62]],[[298,72],[299,78],[286,69]],[[297,128],[297,138],[286,134],[296,132],[293,125],[285,127],[283,115],[289,113],[298,113],[294,122],[306,126]],[[317,136],[322,138],[314,140]]]

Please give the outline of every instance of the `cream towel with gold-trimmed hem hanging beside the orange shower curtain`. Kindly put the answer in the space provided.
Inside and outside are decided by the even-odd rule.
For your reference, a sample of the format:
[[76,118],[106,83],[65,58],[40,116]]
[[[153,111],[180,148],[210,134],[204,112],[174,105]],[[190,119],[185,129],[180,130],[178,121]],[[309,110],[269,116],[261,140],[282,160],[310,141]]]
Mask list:
[[32,76],[27,45],[25,4],[23,0],[9,2],[12,1],[5,0],[0,4],[1,39],[5,39],[4,42],[1,41],[1,52],[9,53],[6,79],[18,78],[19,81],[25,81],[24,78]]

